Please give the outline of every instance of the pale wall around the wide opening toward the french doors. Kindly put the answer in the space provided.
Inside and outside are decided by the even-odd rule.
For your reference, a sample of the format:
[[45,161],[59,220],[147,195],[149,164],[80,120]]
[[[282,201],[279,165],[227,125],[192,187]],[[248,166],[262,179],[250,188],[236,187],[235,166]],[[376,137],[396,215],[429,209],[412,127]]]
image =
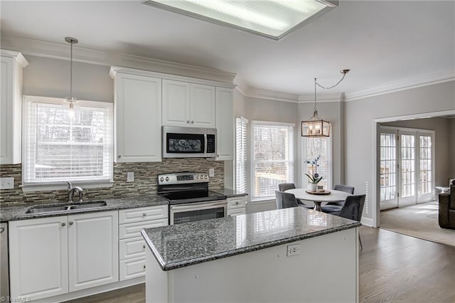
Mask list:
[[364,218],[373,219],[375,119],[455,110],[455,82],[346,102],[346,184],[367,193]]

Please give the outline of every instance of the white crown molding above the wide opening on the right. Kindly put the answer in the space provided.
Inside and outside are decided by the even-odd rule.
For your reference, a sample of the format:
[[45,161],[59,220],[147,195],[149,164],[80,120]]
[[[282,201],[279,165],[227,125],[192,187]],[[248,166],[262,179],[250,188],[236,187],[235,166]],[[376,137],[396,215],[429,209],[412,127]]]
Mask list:
[[391,92],[400,92],[402,90],[411,90],[417,87],[424,87],[428,85],[435,85],[438,83],[445,83],[455,80],[455,70],[441,70],[437,73],[427,75],[419,75],[413,78],[407,78],[386,85],[373,87],[368,90],[361,90],[359,92],[351,92],[346,94],[346,101],[354,101],[367,97],[374,97],[378,95],[385,95]]

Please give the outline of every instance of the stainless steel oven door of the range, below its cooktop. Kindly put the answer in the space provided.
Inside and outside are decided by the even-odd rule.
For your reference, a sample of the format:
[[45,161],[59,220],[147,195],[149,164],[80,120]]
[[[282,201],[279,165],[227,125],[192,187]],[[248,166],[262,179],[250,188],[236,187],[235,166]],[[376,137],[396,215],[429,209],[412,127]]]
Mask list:
[[208,220],[215,218],[224,218],[228,201],[210,201],[203,203],[176,204],[170,206],[169,224],[179,224]]

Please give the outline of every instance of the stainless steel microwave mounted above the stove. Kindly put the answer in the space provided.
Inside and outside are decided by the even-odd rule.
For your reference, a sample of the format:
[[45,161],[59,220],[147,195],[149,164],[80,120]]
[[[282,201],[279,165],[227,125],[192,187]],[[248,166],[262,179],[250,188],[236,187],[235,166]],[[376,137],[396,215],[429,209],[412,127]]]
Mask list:
[[213,158],[216,156],[216,129],[163,127],[163,158]]

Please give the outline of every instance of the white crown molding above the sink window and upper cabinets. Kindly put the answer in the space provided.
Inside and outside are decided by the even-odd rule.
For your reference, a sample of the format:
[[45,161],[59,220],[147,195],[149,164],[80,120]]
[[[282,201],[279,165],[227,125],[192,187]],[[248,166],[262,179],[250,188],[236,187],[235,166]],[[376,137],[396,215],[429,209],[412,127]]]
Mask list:
[[[16,50],[24,55],[70,60],[68,44],[64,43],[1,35],[1,48]],[[75,47],[73,60],[75,62],[95,65],[123,66],[125,68],[149,70],[156,73],[214,80],[221,83],[229,83],[230,85],[232,85],[235,78],[235,73],[228,73],[223,70],[200,68],[194,65],[173,63],[165,60],[146,58],[116,51],[97,50],[81,46]]]

